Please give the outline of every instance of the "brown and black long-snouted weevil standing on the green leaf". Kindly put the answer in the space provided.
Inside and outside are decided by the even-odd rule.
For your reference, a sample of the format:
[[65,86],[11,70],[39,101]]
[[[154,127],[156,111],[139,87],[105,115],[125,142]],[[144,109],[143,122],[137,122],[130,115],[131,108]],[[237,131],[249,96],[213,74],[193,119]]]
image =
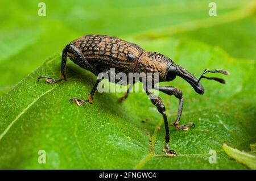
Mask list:
[[[57,83],[60,81],[67,81],[66,76],[66,62],[67,57],[81,68],[91,71],[94,75],[105,72],[109,73],[111,68],[115,68],[115,74],[122,73],[158,73],[159,82],[169,82],[176,78],[176,76],[183,78],[187,81],[198,94],[204,94],[204,87],[201,85],[200,80],[202,78],[213,79],[220,83],[225,83],[224,79],[217,77],[205,77],[208,72],[221,73],[229,75],[226,70],[204,70],[203,74],[197,79],[188,70],[175,64],[170,58],[157,52],[147,52],[139,45],[129,43],[125,40],[118,39],[117,37],[106,35],[86,35],[79,39],[71,41],[64,49],[61,57],[61,71],[60,78],[50,78],[45,75],[40,75],[38,81],[41,78],[46,78],[47,83]],[[98,78],[92,91],[89,94],[88,100],[79,98],[72,98],[69,101],[75,102],[78,106],[85,104],[86,102],[92,103],[93,96],[97,90],[98,84],[102,79]],[[134,82],[135,83],[135,82]],[[129,92],[131,91],[133,84],[129,86],[125,95],[121,100],[127,99]],[[174,156],[176,152],[170,150],[168,143],[170,142],[170,131],[168,125],[168,119],[166,115],[166,108],[163,104],[163,100],[148,89],[147,85],[143,85],[144,90],[150,98],[152,104],[156,106],[159,113],[162,114],[164,120],[164,126],[166,131],[163,151],[166,154]],[[183,110],[183,94],[182,91],[174,86],[154,86],[153,89],[164,92],[167,95],[174,95],[179,99],[179,107],[177,111],[177,118],[172,124],[175,128],[187,131],[189,126],[195,127],[194,123],[187,123],[179,125],[181,112]]]

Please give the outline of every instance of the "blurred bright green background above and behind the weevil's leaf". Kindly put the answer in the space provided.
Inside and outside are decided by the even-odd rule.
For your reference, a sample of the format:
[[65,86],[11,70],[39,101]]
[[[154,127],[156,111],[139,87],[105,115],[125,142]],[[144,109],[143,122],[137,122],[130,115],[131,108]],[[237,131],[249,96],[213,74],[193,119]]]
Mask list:
[[[11,89],[47,57],[82,35],[193,39],[255,60],[255,1],[0,1],[0,92]],[[136,41],[136,40],[135,40]],[[171,53],[171,52],[170,52]]]

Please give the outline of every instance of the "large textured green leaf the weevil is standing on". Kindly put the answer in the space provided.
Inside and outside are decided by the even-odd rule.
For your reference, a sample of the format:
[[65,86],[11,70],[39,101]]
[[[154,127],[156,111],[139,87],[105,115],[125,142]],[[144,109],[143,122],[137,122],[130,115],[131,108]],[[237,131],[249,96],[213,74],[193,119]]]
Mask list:
[[[226,69],[226,85],[202,80],[206,89],[197,95],[183,79],[160,85],[179,87],[184,95],[181,124],[193,121],[187,132],[170,127],[170,149],[163,152],[163,118],[145,93],[96,93],[93,104],[77,107],[70,98],[86,99],[96,77],[68,61],[68,82],[37,82],[39,75],[59,77],[60,54],[49,58],[0,100],[1,169],[246,169],[222,150],[224,143],[246,150],[255,137],[254,61],[230,57],[220,48],[192,40],[127,39],[146,50],[169,56],[199,77],[204,69]],[[166,104],[170,124],[177,116],[178,100],[159,95]],[[146,123],[142,120],[147,119]],[[38,151],[46,151],[46,164]],[[217,163],[209,163],[209,151]]]

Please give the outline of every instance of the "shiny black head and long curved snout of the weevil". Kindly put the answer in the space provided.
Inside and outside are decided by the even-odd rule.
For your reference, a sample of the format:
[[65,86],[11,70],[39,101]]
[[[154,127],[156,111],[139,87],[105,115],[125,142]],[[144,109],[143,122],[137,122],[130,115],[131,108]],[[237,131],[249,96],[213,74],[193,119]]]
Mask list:
[[166,81],[172,81],[177,75],[187,81],[198,94],[204,94],[204,87],[194,75],[179,65],[171,64],[167,70]]

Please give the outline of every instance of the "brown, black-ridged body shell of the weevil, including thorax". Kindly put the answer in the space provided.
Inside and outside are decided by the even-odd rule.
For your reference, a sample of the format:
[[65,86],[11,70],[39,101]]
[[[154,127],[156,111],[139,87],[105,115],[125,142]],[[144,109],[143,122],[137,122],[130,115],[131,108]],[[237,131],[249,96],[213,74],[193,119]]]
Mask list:
[[[159,73],[159,81],[165,81],[167,63],[172,62],[160,53],[146,52],[137,44],[112,36],[86,35],[70,44],[79,48],[89,64],[100,72],[115,68],[115,73]],[[68,57],[75,58],[71,53]]]

